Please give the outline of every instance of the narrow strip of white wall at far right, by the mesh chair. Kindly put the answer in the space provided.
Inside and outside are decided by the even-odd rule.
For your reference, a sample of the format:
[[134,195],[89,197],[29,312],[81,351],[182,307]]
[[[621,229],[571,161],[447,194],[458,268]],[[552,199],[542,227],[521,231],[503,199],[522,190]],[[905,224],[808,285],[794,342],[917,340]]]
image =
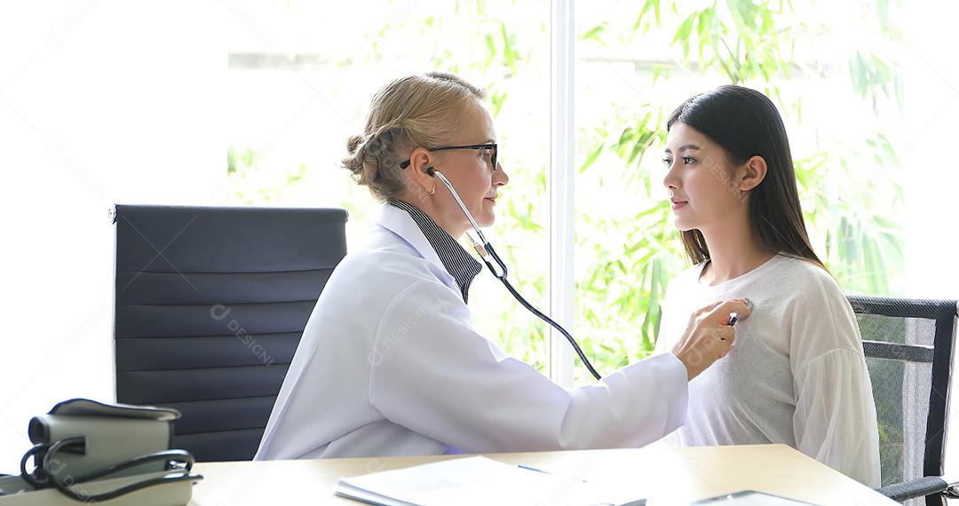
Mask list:
[[[907,176],[906,295],[959,299],[959,57],[955,31],[959,4],[906,3],[909,49],[906,116],[911,138],[902,156]],[[959,403],[953,366],[952,403]],[[947,426],[946,478],[959,478],[959,411]]]

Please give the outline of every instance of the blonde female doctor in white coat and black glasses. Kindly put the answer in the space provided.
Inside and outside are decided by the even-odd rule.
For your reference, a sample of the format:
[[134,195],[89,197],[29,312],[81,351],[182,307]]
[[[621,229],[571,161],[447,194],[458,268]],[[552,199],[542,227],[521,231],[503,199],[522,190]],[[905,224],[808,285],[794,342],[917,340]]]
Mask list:
[[642,447],[686,416],[687,383],[728,353],[729,313],[690,317],[672,353],[567,390],[503,353],[466,306],[480,264],[456,238],[509,181],[479,88],[430,73],[386,85],[343,165],[386,201],[303,331],[256,459]]

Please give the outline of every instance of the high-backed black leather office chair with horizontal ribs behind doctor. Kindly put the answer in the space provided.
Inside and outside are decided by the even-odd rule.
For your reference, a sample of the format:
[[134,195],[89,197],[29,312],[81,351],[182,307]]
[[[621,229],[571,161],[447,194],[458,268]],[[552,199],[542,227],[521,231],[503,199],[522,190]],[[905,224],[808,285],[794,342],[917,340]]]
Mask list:
[[249,460],[346,254],[341,209],[117,205],[117,402],[175,407],[173,448]]

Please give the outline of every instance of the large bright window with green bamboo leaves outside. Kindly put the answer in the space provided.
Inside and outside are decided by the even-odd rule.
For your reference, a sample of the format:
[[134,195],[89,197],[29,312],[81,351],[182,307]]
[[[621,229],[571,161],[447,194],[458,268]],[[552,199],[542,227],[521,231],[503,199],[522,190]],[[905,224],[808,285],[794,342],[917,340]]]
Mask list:
[[[691,95],[736,82],[780,107],[812,241],[842,286],[927,291],[906,278],[915,227],[902,167],[915,132],[902,121],[911,110],[902,9],[844,4],[836,16],[839,8],[808,2],[694,7],[390,3],[319,30],[323,12],[311,4],[231,4],[230,199],[345,207],[358,245],[375,205],[337,163],[345,139],[362,131],[368,100],[398,76],[461,74],[489,92],[511,177],[491,239],[503,244],[518,288],[558,319],[572,317],[567,327],[609,371],[648,356],[668,280],[686,266],[661,185],[666,117]],[[850,16],[862,19],[854,29],[843,21]],[[564,40],[567,48],[557,48]],[[557,72],[572,94],[557,96]],[[566,137],[557,135],[569,127],[563,118],[574,120]],[[550,213],[571,197],[572,217]],[[567,271],[568,282],[553,279]],[[547,327],[503,305],[495,280],[481,274],[474,290],[479,327],[508,352],[562,383],[589,380],[582,367],[555,367],[572,351],[565,342],[550,348]],[[560,311],[564,301],[574,306]]]

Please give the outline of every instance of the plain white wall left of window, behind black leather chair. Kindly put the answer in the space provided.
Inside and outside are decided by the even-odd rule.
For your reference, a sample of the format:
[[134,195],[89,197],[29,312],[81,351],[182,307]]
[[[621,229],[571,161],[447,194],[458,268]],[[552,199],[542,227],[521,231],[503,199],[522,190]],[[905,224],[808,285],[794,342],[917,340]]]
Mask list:
[[0,472],[27,422],[113,397],[120,203],[212,203],[226,67],[214,2],[0,6]]

